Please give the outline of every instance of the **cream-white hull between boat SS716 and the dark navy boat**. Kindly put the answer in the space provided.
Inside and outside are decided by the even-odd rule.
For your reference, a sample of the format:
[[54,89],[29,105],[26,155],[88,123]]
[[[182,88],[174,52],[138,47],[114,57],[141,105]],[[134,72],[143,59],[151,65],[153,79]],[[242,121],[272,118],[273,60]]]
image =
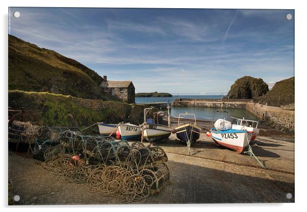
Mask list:
[[145,123],[145,125],[142,124],[141,128],[143,130],[144,138],[148,142],[165,140],[170,136],[172,130],[170,126],[154,123]]

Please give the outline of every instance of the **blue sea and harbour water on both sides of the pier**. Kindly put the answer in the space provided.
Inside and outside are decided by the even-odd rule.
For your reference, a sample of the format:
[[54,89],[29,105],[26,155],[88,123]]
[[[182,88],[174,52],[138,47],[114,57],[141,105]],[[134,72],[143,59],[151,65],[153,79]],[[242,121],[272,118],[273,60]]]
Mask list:
[[[179,96],[173,96],[173,97],[136,97],[135,101],[136,103],[167,102],[168,100],[169,102],[172,102],[175,100],[175,98],[220,99],[221,95],[194,95],[194,96],[179,95]],[[236,117],[236,118],[244,117],[245,119],[251,119],[255,121],[259,120],[256,116],[254,116],[252,113],[248,112],[245,109],[229,108],[229,109],[222,109],[222,112],[221,112],[219,108],[207,108],[207,107],[172,107],[171,108],[172,117],[178,117],[179,114],[184,114],[186,112],[195,114],[196,119],[209,120],[209,121],[212,121],[213,118],[214,118],[214,121],[219,118],[227,119],[227,115],[228,115],[229,120],[231,117]],[[190,116],[190,118],[192,117]]]

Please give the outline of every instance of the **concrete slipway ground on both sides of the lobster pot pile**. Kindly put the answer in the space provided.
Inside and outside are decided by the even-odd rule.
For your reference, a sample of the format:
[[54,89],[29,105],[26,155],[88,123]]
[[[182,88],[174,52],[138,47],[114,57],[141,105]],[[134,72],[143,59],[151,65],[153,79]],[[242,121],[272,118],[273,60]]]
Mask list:
[[[253,145],[255,155],[274,171],[259,168],[247,154],[217,147],[204,134],[199,141],[191,146],[190,155],[174,135],[157,144],[167,152],[171,182],[161,193],[149,196],[145,204],[294,202],[293,136],[260,136],[254,142],[258,145]],[[59,182],[34,158],[9,153],[13,194],[20,196],[16,204],[119,203],[89,193],[86,184]],[[292,194],[291,199],[286,198],[287,193]]]

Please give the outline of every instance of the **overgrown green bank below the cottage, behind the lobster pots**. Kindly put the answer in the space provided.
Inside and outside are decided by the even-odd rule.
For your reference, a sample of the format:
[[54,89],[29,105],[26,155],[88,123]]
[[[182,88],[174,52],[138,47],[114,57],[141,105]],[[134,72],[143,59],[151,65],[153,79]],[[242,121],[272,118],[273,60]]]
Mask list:
[[[144,110],[142,105],[119,101],[17,90],[9,91],[9,107],[30,110],[38,117],[41,126],[76,126],[80,129],[95,122],[140,124]],[[97,126],[93,129],[98,130]]]

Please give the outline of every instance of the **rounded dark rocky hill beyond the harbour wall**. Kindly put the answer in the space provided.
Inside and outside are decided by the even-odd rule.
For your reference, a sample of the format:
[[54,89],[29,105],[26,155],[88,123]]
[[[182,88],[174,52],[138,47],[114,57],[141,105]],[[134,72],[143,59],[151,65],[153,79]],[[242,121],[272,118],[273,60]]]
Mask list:
[[269,86],[262,78],[243,76],[236,80],[227,94],[229,99],[252,99],[266,94]]

